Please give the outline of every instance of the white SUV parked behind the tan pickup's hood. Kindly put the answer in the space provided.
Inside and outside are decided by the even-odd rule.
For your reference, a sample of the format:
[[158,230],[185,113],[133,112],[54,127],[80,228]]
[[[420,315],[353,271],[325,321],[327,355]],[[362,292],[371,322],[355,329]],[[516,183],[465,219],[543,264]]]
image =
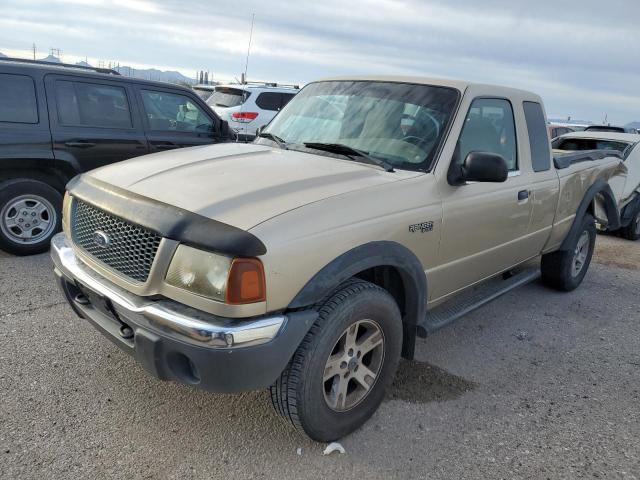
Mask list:
[[229,122],[239,138],[251,139],[298,90],[298,86],[276,83],[218,85],[207,99],[207,104],[220,118]]

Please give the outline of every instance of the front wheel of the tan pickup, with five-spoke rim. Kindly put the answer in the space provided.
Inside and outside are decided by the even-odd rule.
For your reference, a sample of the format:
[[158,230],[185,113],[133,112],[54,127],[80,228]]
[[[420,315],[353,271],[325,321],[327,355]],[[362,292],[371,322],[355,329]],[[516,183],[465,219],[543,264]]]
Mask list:
[[[345,346],[350,339],[355,340],[353,351]],[[360,354],[358,349],[365,343],[377,346]],[[347,282],[319,307],[315,324],[271,386],[273,407],[313,440],[342,438],[364,424],[380,406],[401,349],[402,318],[393,297],[369,282]],[[327,375],[330,356],[334,357],[334,376]],[[375,379],[365,375],[365,369],[377,372]],[[345,391],[341,386],[347,387],[347,395],[339,393]]]

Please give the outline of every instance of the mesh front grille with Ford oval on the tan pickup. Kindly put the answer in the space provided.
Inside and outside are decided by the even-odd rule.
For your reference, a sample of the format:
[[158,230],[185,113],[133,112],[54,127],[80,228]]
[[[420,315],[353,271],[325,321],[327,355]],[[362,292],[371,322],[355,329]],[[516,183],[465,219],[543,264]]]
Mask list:
[[71,238],[89,255],[138,282],[146,282],[162,237],[80,200],[73,202]]

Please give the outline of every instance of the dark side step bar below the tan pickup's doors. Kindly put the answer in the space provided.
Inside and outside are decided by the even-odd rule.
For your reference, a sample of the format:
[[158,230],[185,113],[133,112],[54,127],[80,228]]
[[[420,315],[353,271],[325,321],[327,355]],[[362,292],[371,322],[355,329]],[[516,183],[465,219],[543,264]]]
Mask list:
[[418,336],[424,338],[427,334],[435,332],[499,296],[533,282],[539,276],[540,270],[538,268],[523,270],[505,280],[500,277],[488,280],[484,285],[472,289],[469,293],[453,297],[427,312],[424,321],[418,324]]

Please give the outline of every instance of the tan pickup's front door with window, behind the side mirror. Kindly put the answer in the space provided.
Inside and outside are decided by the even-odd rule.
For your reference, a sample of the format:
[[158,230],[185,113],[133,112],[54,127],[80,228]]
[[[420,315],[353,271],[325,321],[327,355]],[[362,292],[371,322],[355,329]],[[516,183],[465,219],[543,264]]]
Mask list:
[[[526,260],[531,219],[530,176],[520,168],[513,106],[504,98],[473,100],[458,139],[462,162],[469,152],[501,155],[509,166],[504,183],[451,186],[443,179],[443,228],[439,266],[428,272],[430,300]],[[448,168],[448,164],[446,166]]]

